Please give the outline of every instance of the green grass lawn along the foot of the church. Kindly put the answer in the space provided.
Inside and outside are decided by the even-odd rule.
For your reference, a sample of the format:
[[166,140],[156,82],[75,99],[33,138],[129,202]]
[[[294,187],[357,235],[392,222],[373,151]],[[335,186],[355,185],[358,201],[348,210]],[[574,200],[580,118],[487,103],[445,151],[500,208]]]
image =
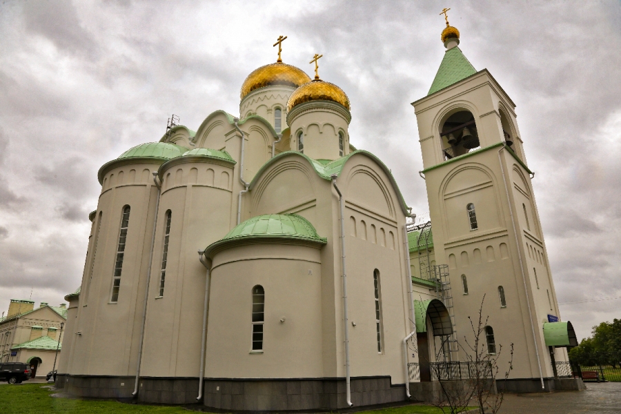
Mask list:
[[[46,388],[43,388],[46,387]],[[70,400],[54,398],[46,384],[0,384],[0,413],[190,413],[179,406],[150,406],[141,404],[124,404],[116,401]],[[405,406],[386,408],[384,410],[366,411],[373,414],[438,414],[439,408],[433,406]]]

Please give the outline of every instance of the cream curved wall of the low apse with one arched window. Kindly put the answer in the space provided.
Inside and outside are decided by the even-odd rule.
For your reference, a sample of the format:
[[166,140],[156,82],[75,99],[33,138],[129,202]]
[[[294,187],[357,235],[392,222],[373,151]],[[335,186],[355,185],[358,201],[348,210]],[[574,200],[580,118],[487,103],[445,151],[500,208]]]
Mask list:
[[[213,260],[206,377],[324,377],[319,250],[253,244]],[[252,353],[252,288],[265,290],[264,344]],[[280,322],[284,318],[284,322]]]

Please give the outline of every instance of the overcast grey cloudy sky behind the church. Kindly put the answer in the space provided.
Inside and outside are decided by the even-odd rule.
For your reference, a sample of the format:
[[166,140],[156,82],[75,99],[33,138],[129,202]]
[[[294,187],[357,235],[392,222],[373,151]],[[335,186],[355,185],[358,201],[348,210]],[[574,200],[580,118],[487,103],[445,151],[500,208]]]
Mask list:
[[276,59],[352,106],[351,142],[428,211],[414,110],[460,48],[517,105],[561,316],[578,337],[621,318],[619,1],[3,1],[0,4],[0,310],[59,304],[81,283],[97,170],[157,141],[172,113],[197,129],[239,114],[246,75]]

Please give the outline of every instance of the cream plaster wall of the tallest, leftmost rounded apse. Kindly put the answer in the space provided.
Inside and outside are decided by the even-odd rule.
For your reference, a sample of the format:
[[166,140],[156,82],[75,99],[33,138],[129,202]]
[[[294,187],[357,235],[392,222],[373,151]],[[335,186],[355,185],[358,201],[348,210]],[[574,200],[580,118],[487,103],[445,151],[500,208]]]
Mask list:
[[[148,224],[155,214],[156,192],[146,181],[148,174],[131,172],[150,171],[157,166],[129,163],[119,163],[121,166],[112,168],[104,178],[108,185],[103,187],[97,206],[97,214],[102,213],[99,242],[92,277],[88,268],[84,273],[90,285],[81,292],[75,328],[81,335],[72,346],[71,374],[131,375],[135,369],[137,351],[132,351],[137,350],[140,328],[137,308],[141,309],[139,304],[144,300],[152,228]],[[112,303],[112,277],[124,206],[130,206],[130,219],[119,297]]]

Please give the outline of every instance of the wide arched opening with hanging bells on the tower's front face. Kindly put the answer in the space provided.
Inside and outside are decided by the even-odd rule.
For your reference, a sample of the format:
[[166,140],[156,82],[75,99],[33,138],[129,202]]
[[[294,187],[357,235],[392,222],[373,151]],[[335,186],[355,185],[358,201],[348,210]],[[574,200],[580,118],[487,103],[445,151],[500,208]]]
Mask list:
[[479,135],[474,115],[469,110],[460,110],[451,115],[440,128],[444,159],[459,157],[480,148]]

